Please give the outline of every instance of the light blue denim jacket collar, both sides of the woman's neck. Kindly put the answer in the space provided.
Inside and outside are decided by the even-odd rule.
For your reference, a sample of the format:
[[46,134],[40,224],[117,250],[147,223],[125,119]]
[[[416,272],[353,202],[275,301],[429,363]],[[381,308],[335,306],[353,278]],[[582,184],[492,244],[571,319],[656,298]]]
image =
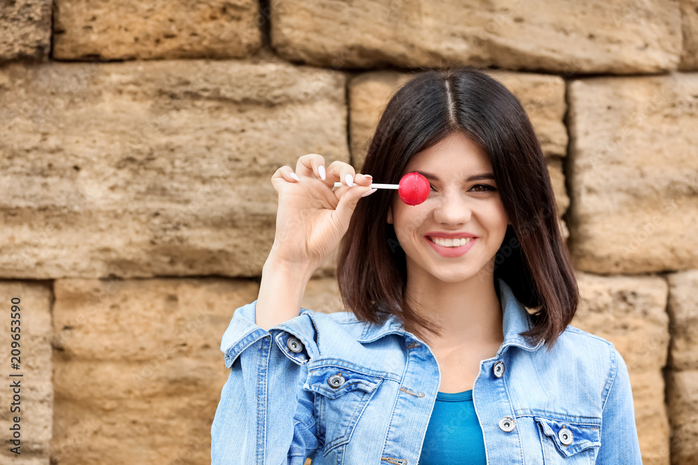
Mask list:
[[[543,340],[533,345],[529,340],[519,334],[530,329],[530,319],[526,307],[517,300],[516,296],[514,296],[514,291],[512,291],[502,278],[498,277],[497,282],[499,284],[499,298],[503,311],[504,333],[504,342],[497,351],[497,355],[500,356],[509,346],[517,346],[526,351],[540,349],[545,343]],[[383,323],[378,325],[364,323],[364,330],[362,335],[357,338],[357,341],[364,343],[375,342],[381,337],[389,334],[400,334],[419,340],[418,337],[405,330],[402,322],[396,315],[390,315]]]

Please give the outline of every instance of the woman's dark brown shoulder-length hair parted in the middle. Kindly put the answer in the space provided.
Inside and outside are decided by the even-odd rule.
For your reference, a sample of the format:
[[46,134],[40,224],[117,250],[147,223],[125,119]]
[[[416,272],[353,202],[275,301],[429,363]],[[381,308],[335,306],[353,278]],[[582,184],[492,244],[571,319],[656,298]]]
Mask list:
[[[511,222],[496,254],[495,284],[501,277],[519,302],[537,310],[521,335],[550,349],[574,317],[579,290],[540,143],[505,86],[467,66],[417,74],[389,100],[360,172],[399,183],[410,158],[454,132],[487,153]],[[363,321],[380,323],[394,314],[418,328],[419,337],[422,330],[438,335],[440,327],[404,298],[405,253],[387,223],[394,195],[379,190],[357,204],[339,252],[341,296]]]

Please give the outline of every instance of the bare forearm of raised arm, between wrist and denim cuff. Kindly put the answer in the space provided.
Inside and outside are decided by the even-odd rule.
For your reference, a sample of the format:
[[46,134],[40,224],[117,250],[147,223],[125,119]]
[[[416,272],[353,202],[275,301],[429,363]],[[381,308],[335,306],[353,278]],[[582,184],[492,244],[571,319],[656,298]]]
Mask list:
[[288,264],[269,254],[262,268],[255,323],[269,330],[297,317],[312,274],[309,266]]

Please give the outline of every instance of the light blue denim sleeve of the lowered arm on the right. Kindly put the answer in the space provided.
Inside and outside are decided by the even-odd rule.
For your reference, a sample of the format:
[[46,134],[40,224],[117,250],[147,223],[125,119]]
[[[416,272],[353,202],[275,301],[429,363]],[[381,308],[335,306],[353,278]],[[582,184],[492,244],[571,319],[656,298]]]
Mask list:
[[611,348],[611,388],[604,404],[597,465],[642,465],[628,367]]

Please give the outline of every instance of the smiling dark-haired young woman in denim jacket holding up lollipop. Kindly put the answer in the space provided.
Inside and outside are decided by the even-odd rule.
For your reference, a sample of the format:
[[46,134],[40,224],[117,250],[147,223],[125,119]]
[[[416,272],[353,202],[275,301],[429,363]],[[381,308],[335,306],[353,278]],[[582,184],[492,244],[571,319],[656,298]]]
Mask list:
[[[368,187],[412,171],[431,183],[417,206]],[[641,464],[623,359],[567,326],[577,283],[517,98],[472,68],[421,73],[362,172],[309,154],[272,176],[276,236],[223,335],[211,462]],[[302,309],[340,243],[352,312]]]

